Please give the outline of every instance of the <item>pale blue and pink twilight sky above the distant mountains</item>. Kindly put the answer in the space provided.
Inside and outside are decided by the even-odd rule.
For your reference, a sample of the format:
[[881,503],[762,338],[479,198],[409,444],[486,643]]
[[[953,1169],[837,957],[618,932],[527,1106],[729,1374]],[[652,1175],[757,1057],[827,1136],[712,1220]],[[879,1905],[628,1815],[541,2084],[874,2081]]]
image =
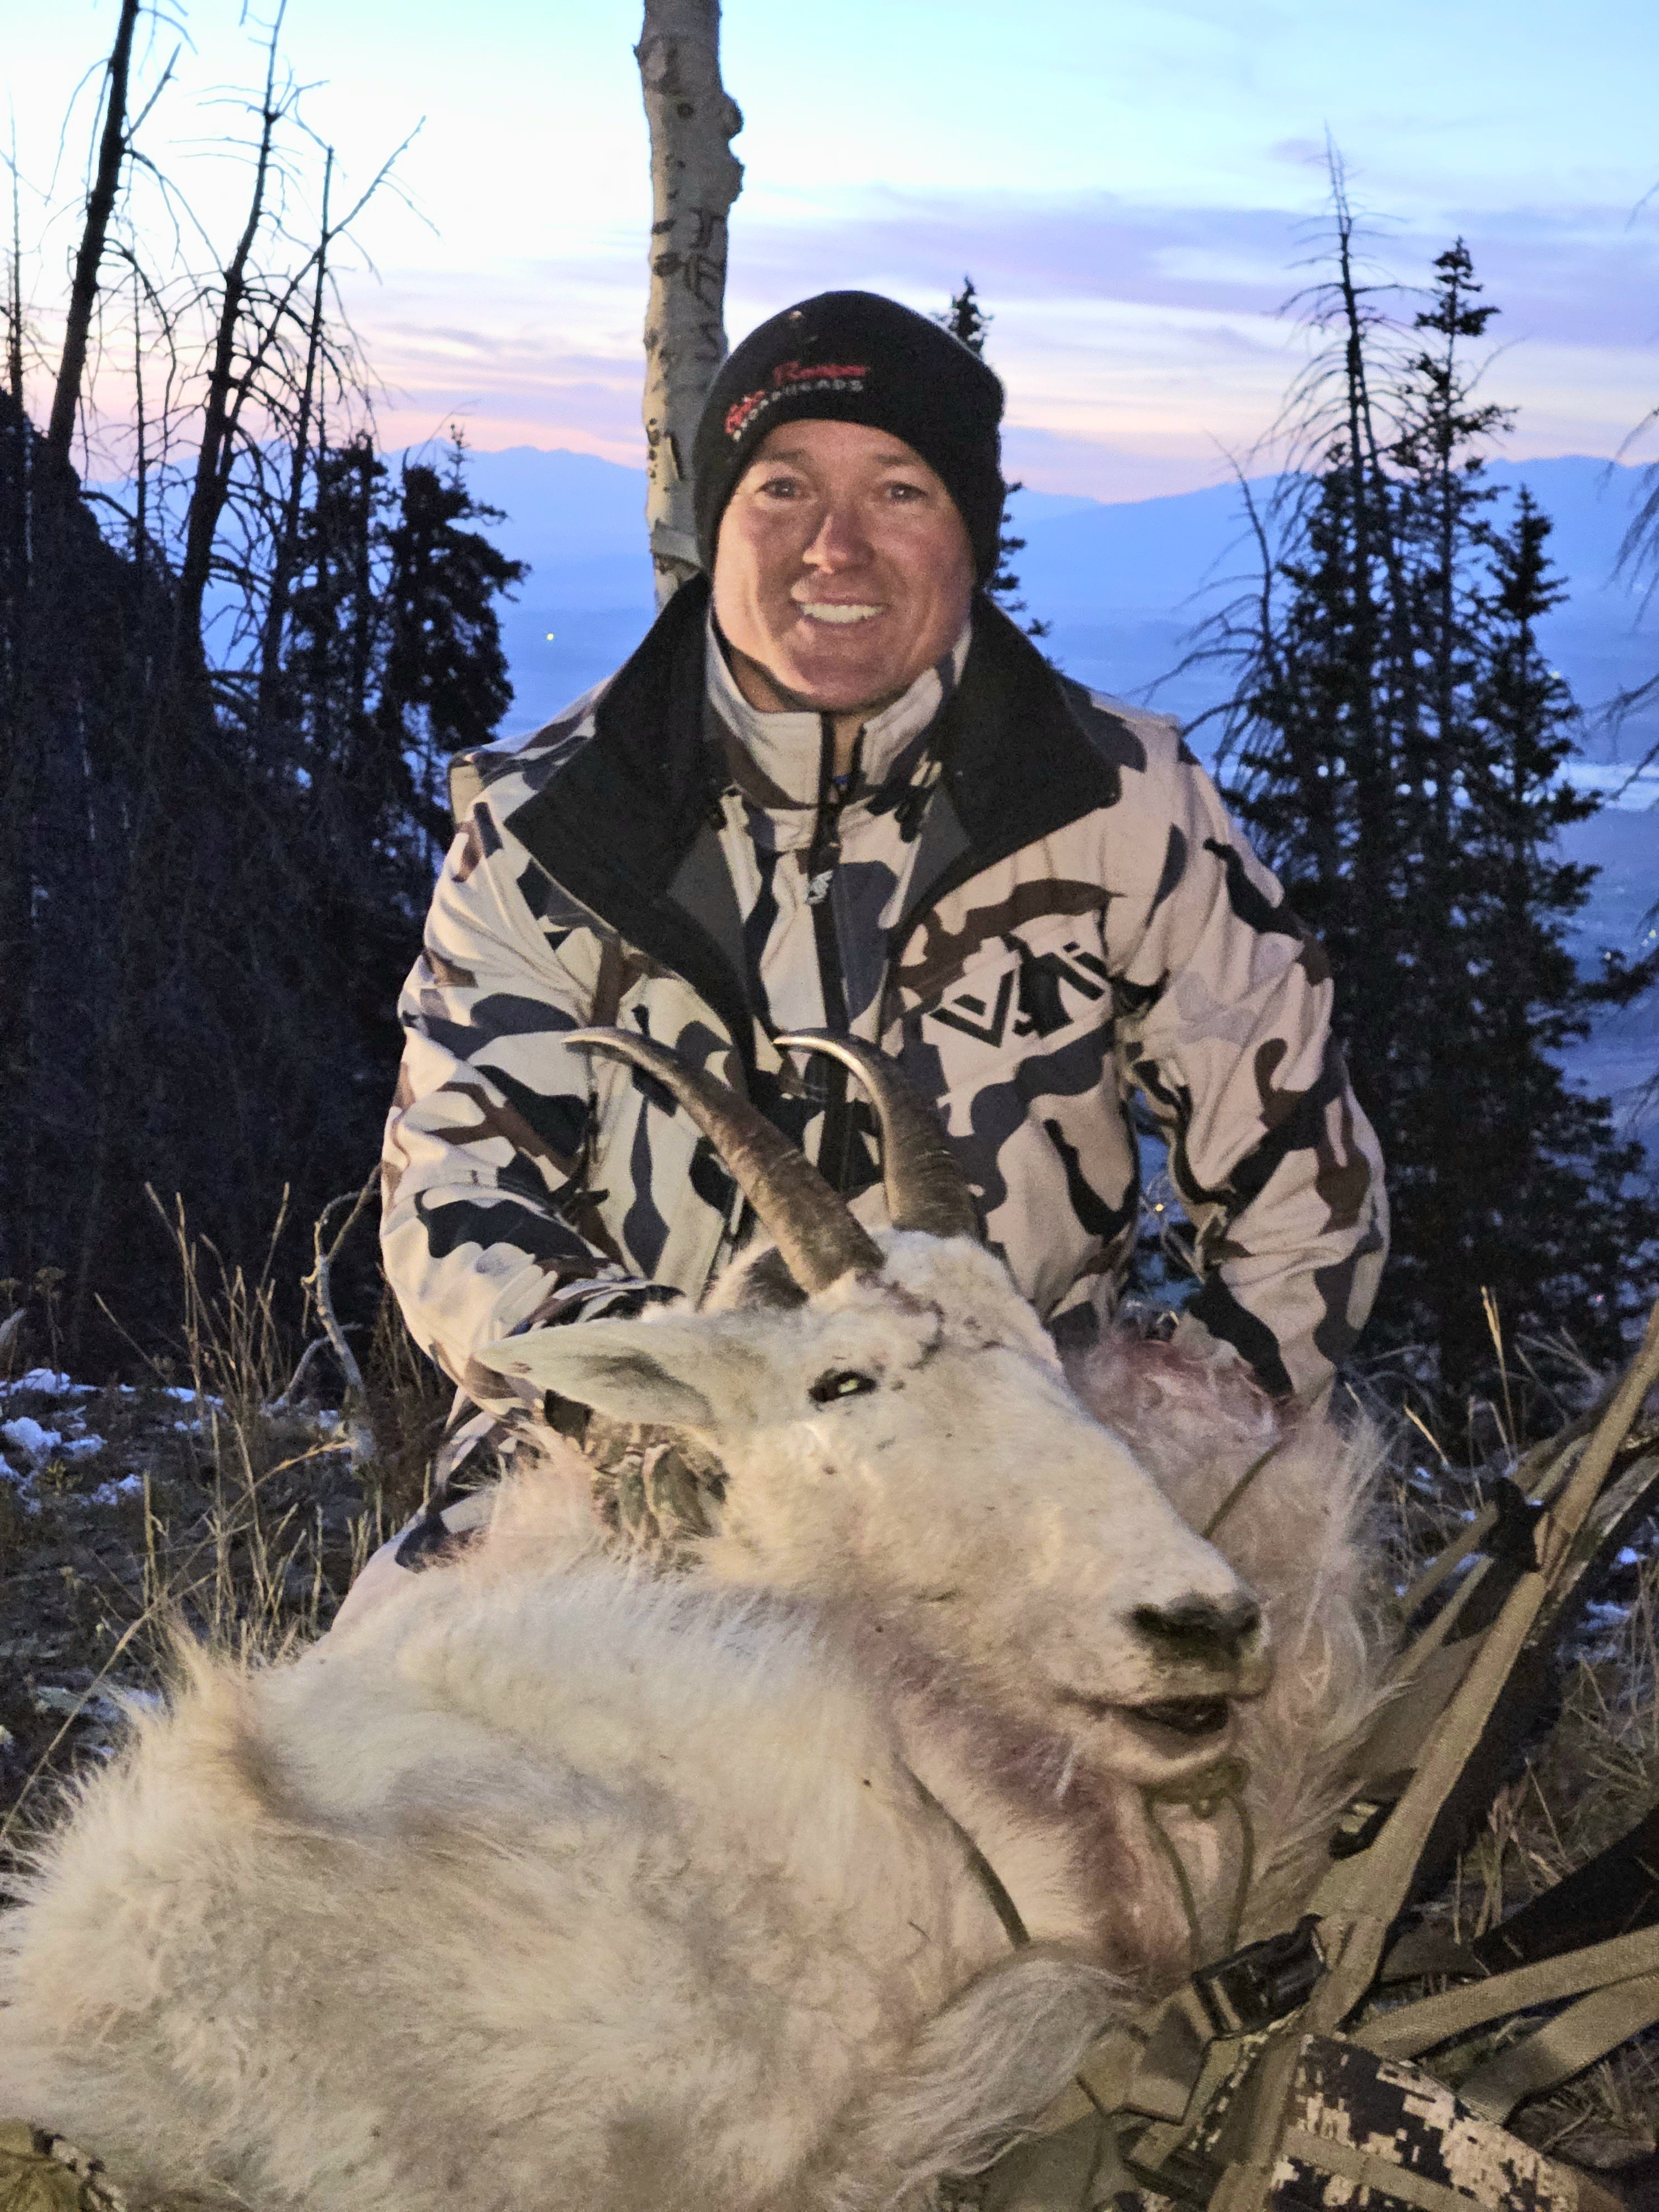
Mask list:
[[[4,4],[49,361],[115,0]],[[252,27],[237,0],[173,18],[142,146],[223,241]],[[420,126],[345,279],[387,445],[458,420],[476,447],[641,460],[637,35],[637,0],[290,0],[303,113],[347,186]],[[1327,137],[1378,281],[1420,285],[1469,241],[1511,453],[1610,456],[1659,405],[1652,0],[728,0],[723,73],[745,115],[730,336],[832,285],[942,307],[971,272],[1033,489],[1186,491],[1256,449],[1305,358],[1281,307],[1316,274]]]

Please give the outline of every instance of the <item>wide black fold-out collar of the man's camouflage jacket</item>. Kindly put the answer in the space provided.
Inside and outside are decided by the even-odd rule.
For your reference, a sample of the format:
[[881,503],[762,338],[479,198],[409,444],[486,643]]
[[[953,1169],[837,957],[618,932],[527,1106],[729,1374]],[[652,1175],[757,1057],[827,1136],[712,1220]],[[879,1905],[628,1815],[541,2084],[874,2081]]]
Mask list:
[[[726,931],[710,927],[703,900],[675,896],[726,781],[723,761],[703,741],[708,599],[706,577],[681,584],[599,699],[588,743],[507,816],[507,827],[571,898],[679,973],[748,1064],[754,1022],[741,969],[721,947]],[[940,710],[936,750],[942,790],[920,854],[929,867],[916,872],[894,951],[960,883],[1115,805],[1119,770],[1141,757],[1126,723],[1055,675],[984,593],[973,602],[962,681]],[[945,834],[929,834],[940,796],[949,803]]]

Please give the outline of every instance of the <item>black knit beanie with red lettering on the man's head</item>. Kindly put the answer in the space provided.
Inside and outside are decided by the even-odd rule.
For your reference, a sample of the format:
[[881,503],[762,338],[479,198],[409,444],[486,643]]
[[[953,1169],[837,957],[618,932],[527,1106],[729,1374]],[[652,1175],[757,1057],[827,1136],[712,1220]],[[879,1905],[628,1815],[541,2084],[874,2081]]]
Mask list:
[[823,416],[867,422],[914,447],[956,500],[980,582],[998,564],[1002,385],[925,314],[876,292],[821,292],[761,323],[714,378],[697,425],[697,551],[714,573],[726,502],[761,438]]

